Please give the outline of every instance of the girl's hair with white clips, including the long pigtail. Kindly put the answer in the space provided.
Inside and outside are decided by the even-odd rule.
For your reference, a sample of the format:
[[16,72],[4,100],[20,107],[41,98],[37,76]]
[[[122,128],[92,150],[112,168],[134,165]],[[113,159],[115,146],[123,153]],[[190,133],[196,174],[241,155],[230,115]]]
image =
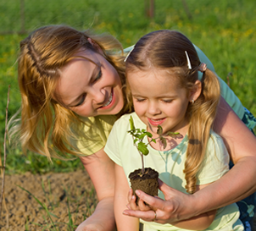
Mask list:
[[[186,52],[192,69],[188,69]],[[151,68],[172,69],[181,87],[192,90],[198,80],[200,60],[193,44],[186,36],[175,30],[158,30],[143,36],[125,61],[126,73]],[[173,73],[173,72],[171,72]],[[171,75],[173,76],[173,75]],[[189,103],[186,116],[190,124],[185,162],[186,191],[196,190],[197,173],[203,162],[217,106],[220,101],[220,84],[217,76],[209,69],[203,73],[202,91],[197,101]],[[127,87],[127,98],[131,104],[131,91]]]

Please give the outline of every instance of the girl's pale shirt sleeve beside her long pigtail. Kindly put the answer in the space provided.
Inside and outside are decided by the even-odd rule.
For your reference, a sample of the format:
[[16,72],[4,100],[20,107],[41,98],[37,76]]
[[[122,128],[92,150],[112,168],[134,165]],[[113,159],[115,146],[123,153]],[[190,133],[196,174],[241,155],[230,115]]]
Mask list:
[[211,133],[197,184],[210,184],[229,171],[230,157],[219,135]]

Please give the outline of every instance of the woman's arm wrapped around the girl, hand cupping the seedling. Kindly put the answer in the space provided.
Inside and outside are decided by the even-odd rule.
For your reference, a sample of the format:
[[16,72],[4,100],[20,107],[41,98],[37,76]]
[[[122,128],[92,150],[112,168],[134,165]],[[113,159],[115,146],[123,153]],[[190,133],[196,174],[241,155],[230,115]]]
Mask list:
[[[165,200],[137,191],[139,197],[159,210],[159,223],[173,223],[240,201],[256,191],[256,137],[223,98],[214,130],[219,133],[235,166],[223,177],[193,195],[186,195],[159,182]],[[153,220],[154,212],[125,211],[127,215]]]

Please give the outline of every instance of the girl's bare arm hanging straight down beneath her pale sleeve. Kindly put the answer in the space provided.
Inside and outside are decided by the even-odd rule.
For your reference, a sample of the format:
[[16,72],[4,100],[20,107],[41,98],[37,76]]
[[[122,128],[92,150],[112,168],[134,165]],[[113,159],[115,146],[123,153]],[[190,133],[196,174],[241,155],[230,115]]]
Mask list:
[[125,177],[125,172],[120,165],[115,164],[115,188],[114,188],[114,217],[116,226],[119,231],[122,230],[139,230],[139,220],[134,217],[124,216],[123,212],[128,203],[127,192],[130,187]]

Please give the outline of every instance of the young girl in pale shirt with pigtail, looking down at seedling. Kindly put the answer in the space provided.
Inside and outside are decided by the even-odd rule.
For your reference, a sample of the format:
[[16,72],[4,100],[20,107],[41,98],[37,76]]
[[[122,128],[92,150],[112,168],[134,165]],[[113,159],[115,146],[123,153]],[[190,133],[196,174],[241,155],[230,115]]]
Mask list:
[[[203,79],[198,80],[198,70]],[[144,157],[145,168],[159,172],[159,179],[183,193],[194,194],[220,179],[229,169],[225,144],[212,130],[220,101],[217,76],[201,63],[192,42],[177,31],[159,30],[143,36],[126,59],[128,98],[135,113],[122,116],[109,135],[105,151],[115,162],[114,215],[118,230],[138,230],[139,221],[123,214],[129,190],[128,175],[142,168],[133,145],[129,118],[136,128],[166,137],[167,146],[151,143]],[[144,137],[147,143],[147,137]],[[164,199],[163,195],[159,195]],[[143,207],[142,202],[139,205]],[[158,217],[155,212],[155,218]],[[153,219],[153,220],[154,220]],[[143,230],[243,230],[236,204],[179,222],[144,223]]]

